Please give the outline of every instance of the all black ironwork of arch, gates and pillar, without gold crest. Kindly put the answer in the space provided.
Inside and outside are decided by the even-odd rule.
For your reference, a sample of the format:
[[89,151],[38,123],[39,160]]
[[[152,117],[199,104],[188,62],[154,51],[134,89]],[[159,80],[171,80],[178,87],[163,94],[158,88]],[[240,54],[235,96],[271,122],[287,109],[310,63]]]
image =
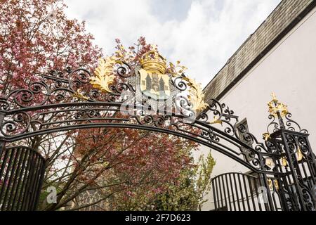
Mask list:
[[[17,89],[0,98],[0,147],[6,142],[42,134],[95,127],[173,134],[217,150],[258,174],[259,182],[254,181],[256,177],[240,174],[225,174],[214,179],[213,194],[220,199],[216,201],[216,209],[315,209],[315,199],[311,198],[315,186],[315,155],[308,143],[307,131],[291,120],[290,114],[285,115],[285,124],[281,115],[277,118],[270,115],[272,122],[268,130],[272,127],[274,134],[261,143],[244,124],[239,123],[239,118],[227,105],[215,99],[209,101],[202,113],[192,110],[193,103],[187,98],[187,86],[192,84],[185,75],[171,77],[170,85],[176,90],[172,98],[163,104],[150,105],[153,101],[141,98],[137,88],[139,68],[126,63],[117,63],[114,68],[117,78],[110,86],[110,93],[93,88],[87,70],[67,68],[65,72],[51,71],[41,75],[36,82],[29,82],[27,89]],[[293,125],[298,127],[297,131]],[[298,147],[305,161],[295,160]],[[19,172],[15,167],[22,163],[21,171],[27,172],[27,176],[22,176],[22,184],[18,181],[17,185],[28,189],[20,188],[20,193],[15,191],[18,195],[15,198],[14,191],[2,186],[0,196],[5,203],[2,205],[4,210],[34,209],[44,171],[44,159],[37,153],[31,153],[29,148],[17,149],[10,148],[1,153],[4,162],[10,162],[13,174]],[[22,162],[23,154],[28,154],[27,159],[31,158],[37,164],[30,160]],[[282,157],[287,158],[288,167],[282,167]],[[269,159],[275,167],[267,165]],[[2,163],[1,177],[6,168],[4,165]],[[9,184],[16,183],[11,172],[4,174]],[[256,205],[254,198],[260,194],[258,188],[261,187],[268,188],[267,200],[263,205]],[[7,199],[13,200],[14,207],[6,205]],[[22,204],[16,205],[18,203]]]

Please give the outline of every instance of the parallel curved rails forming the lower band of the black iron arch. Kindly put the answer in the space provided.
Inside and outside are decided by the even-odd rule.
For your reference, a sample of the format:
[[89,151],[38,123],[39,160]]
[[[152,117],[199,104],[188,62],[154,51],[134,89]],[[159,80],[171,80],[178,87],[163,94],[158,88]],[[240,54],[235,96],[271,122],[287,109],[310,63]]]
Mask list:
[[[27,129],[22,131],[17,129],[15,132],[13,132],[14,134],[11,135],[6,134],[3,130],[1,130],[0,140],[6,142],[19,141],[21,139],[30,138],[37,135],[51,134],[53,132],[74,129],[89,129],[97,127],[129,128],[157,131],[164,134],[179,136],[190,141],[195,141],[199,144],[223,153],[229,158],[236,160],[255,172],[261,171],[263,166],[263,156],[270,155],[270,153],[259,151],[258,148],[255,149],[247,146],[246,143],[237,139],[235,136],[230,136],[225,133],[225,131],[218,129],[207,122],[202,122],[199,120],[195,120],[192,123],[175,121],[185,119],[185,117],[180,115],[173,114],[171,116],[157,117],[156,119],[152,118],[152,121],[143,120],[144,117],[142,118],[141,116],[136,115],[129,117],[114,117],[113,114],[110,117],[100,116],[102,111],[119,112],[119,108],[121,106],[122,104],[119,103],[82,102],[53,104],[51,105],[51,108],[48,108],[48,105],[42,105],[32,108],[25,108],[23,110],[13,110],[4,116],[5,122],[2,128],[8,126],[10,122],[15,122],[14,117],[17,117],[22,113],[28,115],[27,120],[29,120],[29,122],[27,122]],[[135,105],[135,108],[137,108],[137,105]],[[35,114],[34,117],[31,116],[32,113],[39,112],[41,110],[45,111],[43,113]],[[89,111],[93,112],[93,114],[87,116],[86,114]],[[45,122],[43,119],[47,115],[54,115],[55,117],[58,117],[58,113],[66,113],[69,118],[65,120],[64,117],[61,117],[62,120],[54,120],[53,122]],[[42,119],[39,118],[41,117],[40,115],[43,115]],[[81,118],[76,117],[77,115],[81,115]],[[13,120],[8,120],[8,117],[13,118]],[[25,120],[21,119],[17,120],[17,122],[25,122]],[[164,126],[166,122],[169,122],[171,127]],[[40,124],[40,126],[37,127],[36,124]],[[185,128],[195,129],[196,133],[187,131]],[[254,159],[251,162],[245,160],[244,156],[246,156],[246,153],[242,153],[242,148],[248,148],[253,154]],[[275,172],[270,173],[275,174]]]

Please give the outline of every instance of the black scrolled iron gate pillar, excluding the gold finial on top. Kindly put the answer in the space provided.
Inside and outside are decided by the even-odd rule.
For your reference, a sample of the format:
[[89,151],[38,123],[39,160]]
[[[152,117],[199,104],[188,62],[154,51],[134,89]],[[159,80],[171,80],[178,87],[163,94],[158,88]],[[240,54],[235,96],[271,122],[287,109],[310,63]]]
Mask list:
[[270,149],[277,151],[275,176],[284,210],[315,211],[316,160],[308,134],[280,129],[272,134]]

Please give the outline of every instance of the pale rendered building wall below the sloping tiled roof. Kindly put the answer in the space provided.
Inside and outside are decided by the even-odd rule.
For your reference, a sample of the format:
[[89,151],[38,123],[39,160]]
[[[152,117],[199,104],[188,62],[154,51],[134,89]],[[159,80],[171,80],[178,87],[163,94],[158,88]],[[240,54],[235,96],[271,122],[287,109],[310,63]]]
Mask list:
[[[316,153],[316,9],[279,41],[257,65],[239,81],[220,102],[226,103],[247,119],[249,131],[261,141],[269,124],[268,105],[271,92],[280,102],[288,105],[292,118],[308,129],[310,144]],[[201,147],[197,155],[208,153]],[[216,159],[213,175],[225,172],[248,172],[239,163],[212,150]],[[212,210],[211,195],[202,210]]]

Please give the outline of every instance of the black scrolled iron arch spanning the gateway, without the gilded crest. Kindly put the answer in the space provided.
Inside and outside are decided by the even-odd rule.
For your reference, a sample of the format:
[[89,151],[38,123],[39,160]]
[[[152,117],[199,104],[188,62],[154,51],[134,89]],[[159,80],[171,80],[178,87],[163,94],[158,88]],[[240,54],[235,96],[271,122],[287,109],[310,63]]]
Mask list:
[[[110,86],[110,93],[93,89],[89,82],[91,74],[81,68],[51,71],[41,75],[39,81],[29,82],[24,89],[8,93],[0,98],[0,141],[93,127],[145,129],[195,141],[253,171],[276,173],[265,167],[265,158],[274,154],[265,147],[267,143],[259,143],[247,133],[225,104],[212,100],[209,107],[195,117],[192,103],[181,95],[187,87],[183,77],[171,79],[173,89],[178,90],[177,95],[165,102],[171,102],[171,110],[165,104],[158,113],[150,113],[151,105],[146,108],[146,101],[150,99],[145,102],[138,99],[135,86],[139,80],[135,68],[121,63],[116,71],[117,83]],[[211,122],[210,114],[214,117]]]

